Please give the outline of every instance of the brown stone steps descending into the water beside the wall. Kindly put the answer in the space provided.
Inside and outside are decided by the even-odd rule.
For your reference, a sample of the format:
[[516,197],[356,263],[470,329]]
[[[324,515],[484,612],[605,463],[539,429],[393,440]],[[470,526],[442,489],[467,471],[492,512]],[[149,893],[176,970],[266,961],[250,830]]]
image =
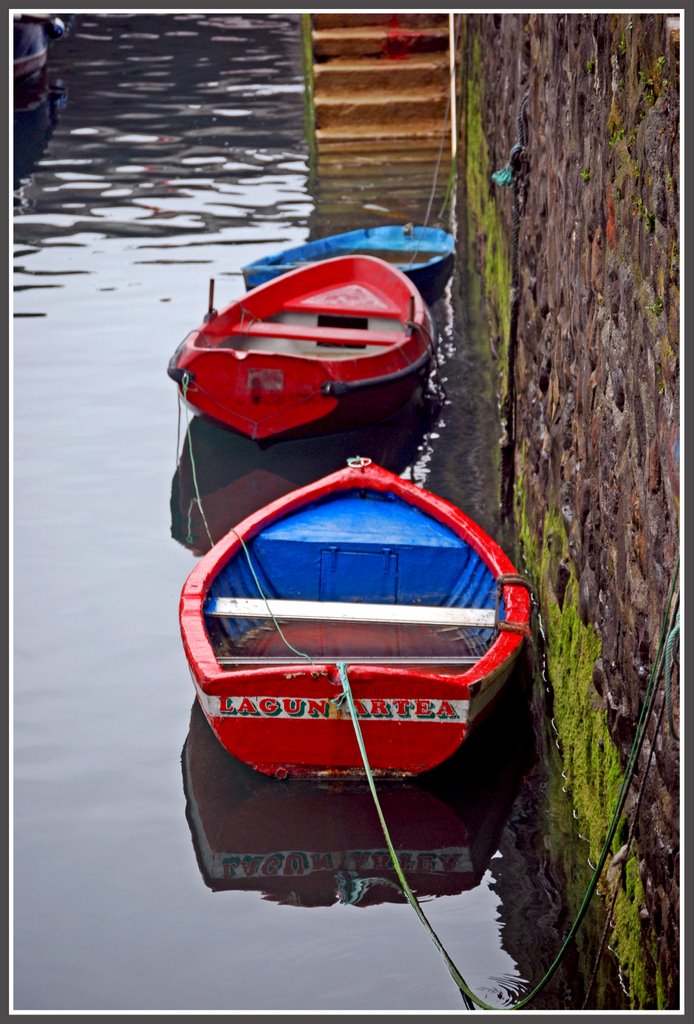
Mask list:
[[306,16],[319,232],[433,223],[451,162],[448,14]]

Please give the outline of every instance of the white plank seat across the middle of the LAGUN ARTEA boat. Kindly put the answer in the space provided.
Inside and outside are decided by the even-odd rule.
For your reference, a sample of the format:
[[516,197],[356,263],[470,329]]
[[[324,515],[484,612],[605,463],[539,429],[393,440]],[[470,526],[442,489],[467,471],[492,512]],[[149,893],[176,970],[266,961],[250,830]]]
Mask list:
[[208,598],[205,613],[226,618],[320,618],[392,625],[497,626],[494,608],[448,608],[422,604],[356,604],[349,601],[264,601],[250,597]]

